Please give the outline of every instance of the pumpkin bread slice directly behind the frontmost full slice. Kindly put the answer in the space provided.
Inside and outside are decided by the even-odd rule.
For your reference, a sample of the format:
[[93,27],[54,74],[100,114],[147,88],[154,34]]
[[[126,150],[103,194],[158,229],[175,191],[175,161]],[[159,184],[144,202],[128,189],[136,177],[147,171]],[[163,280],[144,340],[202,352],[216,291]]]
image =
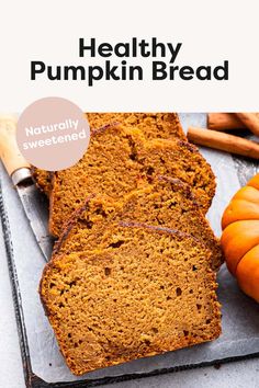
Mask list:
[[203,241],[211,251],[213,270],[218,270],[223,263],[219,242],[195,203],[190,186],[165,176],[154,178],[121,202],[105,195],[89,197],[67,222],[55,244],[54,255],[102,247],[104,231],[120,220],[184,231]]

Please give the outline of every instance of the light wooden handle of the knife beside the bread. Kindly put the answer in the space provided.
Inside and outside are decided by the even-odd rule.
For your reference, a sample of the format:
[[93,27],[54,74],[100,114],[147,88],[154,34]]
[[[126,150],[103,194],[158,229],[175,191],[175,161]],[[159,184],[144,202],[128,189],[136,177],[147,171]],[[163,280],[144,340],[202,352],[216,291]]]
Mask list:
[[16,118],[0,116],[0,158],[10,176],[21,168],[30,168],[18,148],[15,132]]

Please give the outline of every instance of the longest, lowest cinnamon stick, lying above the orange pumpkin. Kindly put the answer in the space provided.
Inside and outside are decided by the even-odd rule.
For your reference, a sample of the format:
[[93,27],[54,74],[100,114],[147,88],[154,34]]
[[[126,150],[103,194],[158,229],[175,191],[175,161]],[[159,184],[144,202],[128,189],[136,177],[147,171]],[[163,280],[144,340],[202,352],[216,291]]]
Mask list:
[[259,144],[222,132],[189,127],[188,139],[200,146],[259,159]]

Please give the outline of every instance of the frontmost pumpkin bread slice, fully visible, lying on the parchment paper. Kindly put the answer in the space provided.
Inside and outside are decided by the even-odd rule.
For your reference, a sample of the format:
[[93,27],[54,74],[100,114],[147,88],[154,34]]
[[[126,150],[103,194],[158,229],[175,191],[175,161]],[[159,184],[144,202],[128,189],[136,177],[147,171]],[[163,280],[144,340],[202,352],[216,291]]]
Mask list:
[[114,225],[103,238],[106,249],[54,258],[41,282],[74,374],[219,335],[215,275],[199,240],[139,224]]

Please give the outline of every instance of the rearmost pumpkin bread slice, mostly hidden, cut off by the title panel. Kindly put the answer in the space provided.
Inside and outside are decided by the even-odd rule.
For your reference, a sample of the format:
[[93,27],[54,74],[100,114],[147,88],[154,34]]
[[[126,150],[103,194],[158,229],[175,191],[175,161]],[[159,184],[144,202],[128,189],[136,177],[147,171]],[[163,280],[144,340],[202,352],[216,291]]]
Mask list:
[[[93,132],[105,125],[121,123],[127,127],[137,127],[147,139],[187,140],[177,113],[88,113],[86,116]],[[33,173],[38,187],[49,195],[52,186],[48,171],[34,168]]]

